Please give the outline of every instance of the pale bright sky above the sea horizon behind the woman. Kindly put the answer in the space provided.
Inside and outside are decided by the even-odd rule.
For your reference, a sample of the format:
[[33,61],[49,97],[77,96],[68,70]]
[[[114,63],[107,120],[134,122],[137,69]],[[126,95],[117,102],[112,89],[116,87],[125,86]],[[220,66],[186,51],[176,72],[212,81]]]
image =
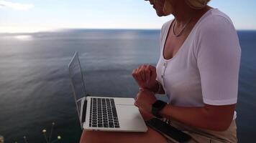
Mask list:
[[[255,0],[211,0],[236,29],[256,30]],[[158,17],[144,0],[0,0],[0,33],[55,29],[160,29],[173,16]]]

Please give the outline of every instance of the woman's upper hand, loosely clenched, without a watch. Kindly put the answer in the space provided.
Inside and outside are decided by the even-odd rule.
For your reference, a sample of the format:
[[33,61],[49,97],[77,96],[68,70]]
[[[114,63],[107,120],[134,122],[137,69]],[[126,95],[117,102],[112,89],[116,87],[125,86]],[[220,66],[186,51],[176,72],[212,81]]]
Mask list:
[[157,84],[155,66],[142,65],[132,71],[132,77],[142,89],[152,89]]

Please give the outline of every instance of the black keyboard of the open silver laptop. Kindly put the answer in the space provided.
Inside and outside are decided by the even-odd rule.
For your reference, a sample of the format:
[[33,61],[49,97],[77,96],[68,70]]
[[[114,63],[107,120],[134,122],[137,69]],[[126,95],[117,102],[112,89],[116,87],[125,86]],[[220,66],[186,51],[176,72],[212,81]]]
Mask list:
[[89,127],[119,128],[114,99],[91,99]]

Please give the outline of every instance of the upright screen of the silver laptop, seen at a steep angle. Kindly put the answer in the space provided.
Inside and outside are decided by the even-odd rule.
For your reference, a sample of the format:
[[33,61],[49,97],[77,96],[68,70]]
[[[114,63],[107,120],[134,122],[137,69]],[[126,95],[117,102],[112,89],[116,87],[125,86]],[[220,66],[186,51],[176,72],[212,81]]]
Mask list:
[[80,61],[78,58],[78,52],[76,52],[68,64],[71,85],[73,94],[76,100],[76,106],[78,109],[78,115],[80,116],[81,111],[81,98],[86,97],[86,88],[83,80],[83,74],[81,70]]

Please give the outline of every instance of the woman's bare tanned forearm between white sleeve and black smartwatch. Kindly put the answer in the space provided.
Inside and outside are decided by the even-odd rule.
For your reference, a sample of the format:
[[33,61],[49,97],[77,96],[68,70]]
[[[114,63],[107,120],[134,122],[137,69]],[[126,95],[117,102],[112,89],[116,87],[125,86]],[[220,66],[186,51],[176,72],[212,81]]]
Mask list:
[[160,111],[160,115],[193,127],[225,131],[232,122],[235,105],[205,104],[204,107],[175,107],[168,104]]

